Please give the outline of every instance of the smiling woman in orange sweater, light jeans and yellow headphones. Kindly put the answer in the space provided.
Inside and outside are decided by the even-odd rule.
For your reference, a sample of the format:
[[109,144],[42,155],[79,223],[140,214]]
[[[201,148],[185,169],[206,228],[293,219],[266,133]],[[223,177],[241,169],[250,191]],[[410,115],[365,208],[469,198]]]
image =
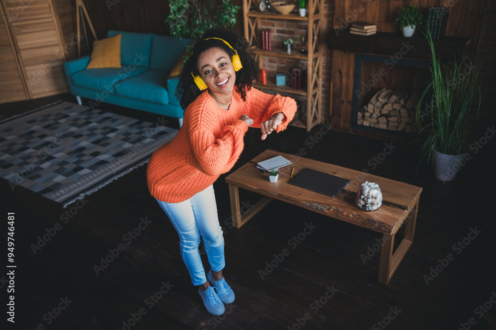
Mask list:
[[[212,184],[236,163],[249,126],[260,128],[264,140],[284,130],[296,112],[292,98],[251,88],[257,78],[258,63],[244,38],[225,28],[206,32],[179,78],[183,126],[153,153],[147,168],[150,193],[178,232],[191,282],[213,315],[223,314],[223,303],[235,295],[222,276],[224,238]],[[200,236],[211,267],[206,275]]]

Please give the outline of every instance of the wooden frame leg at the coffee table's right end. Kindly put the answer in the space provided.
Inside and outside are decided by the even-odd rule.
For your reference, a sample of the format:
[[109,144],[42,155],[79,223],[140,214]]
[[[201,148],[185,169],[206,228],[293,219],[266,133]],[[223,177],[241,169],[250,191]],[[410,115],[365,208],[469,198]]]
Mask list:
[[[382,284],[389,283],[394,272],[398,268],[399,264],[405,257],[408,249],[413,243],[413,236],[415,234],[415,226],[417,223],[417,211],[419,210],[419,201],[413,207],[412,219],[408,220],[405,224],[405,236],[401,240],[400,245],[393,252],[394,245],[394,234],[383,234],[383,244],[380,251],[380,265],[379,265],[379,279],[378,282]],[[408,215],[407,215],[408,217]]]

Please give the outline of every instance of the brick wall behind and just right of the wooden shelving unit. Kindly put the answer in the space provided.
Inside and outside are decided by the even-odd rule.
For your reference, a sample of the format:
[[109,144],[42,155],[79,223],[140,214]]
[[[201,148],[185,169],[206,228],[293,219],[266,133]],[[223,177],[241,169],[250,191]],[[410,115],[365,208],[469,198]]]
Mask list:
[[[324,1],[324,20],[321,30],[322,38],[322,122],[327,123],[329,120],[329,99],[330,99],[330,82],[331,82],[331,52],[327,49],[326,36],[327,33],[332,32],[332,0]],[[262,19],[261,22],[263,29],[270,29],[272,33],[271,47],[283,48],[283,40],[292,38],[295,43],[293,44],[293,51],[298,51],[301,48],[301,36],[307,36],[306,21],[296,20],[279,20],[279,19]],[[333,33],[333,32],[332,32]],[[308,49],[308,47],[306,47]],[[274,71],[285,64],[276,57],[264,56],[262,67],[267,71]],[[298,95],[291,95],[294,98],[302,99]]]

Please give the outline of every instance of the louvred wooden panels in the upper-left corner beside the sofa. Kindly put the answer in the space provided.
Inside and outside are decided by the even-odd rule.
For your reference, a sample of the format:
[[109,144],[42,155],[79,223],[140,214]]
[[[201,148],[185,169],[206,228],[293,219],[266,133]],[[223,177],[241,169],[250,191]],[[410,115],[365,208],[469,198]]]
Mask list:
[[0,30],[0,103],[68,92],[63,62],[75,57],[77,48],[72,1],[0,2],[4,18]]

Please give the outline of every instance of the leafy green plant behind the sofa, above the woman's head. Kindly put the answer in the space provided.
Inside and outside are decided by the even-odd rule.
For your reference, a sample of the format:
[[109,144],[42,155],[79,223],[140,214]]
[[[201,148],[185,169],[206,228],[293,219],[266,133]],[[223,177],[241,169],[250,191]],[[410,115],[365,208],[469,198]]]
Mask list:
[[165,21],[172,36],[198,38],[217,26],[233,27],[238,21],[240,6],[231,0],[222,0],[220,6],[215,6],[211,0],[174,0],[169,1],[169,8],[171,13]]

